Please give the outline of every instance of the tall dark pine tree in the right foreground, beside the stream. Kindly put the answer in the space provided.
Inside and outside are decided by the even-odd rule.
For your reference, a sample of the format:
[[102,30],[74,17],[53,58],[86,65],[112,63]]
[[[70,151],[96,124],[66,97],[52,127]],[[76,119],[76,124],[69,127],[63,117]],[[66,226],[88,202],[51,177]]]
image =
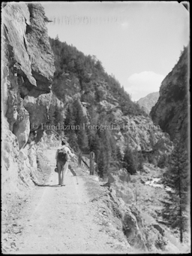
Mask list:
[[189,189],[189,172],[187,151],[184,144],[174,142],[175,148],[169,157],[169,167],[164,175],[163,182],[172,190],[165,198],[163,218],[172,227],[178,227],[180,231],[180,242],[183,242],[183,233],[187,228],[187,203]]

